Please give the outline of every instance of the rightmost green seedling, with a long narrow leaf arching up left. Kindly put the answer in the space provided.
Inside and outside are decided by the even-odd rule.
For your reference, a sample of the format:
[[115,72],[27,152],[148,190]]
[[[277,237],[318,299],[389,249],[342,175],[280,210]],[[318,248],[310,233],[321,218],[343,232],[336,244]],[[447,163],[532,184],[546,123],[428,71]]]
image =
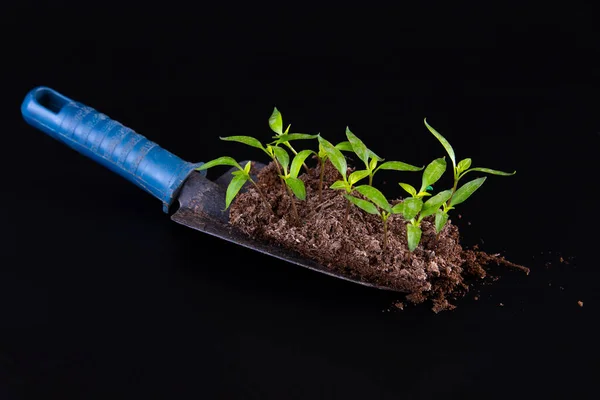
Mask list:
[[510,175],[516,174],[517,171],[503,172],[503,171],[498,171],[498,170],[494,170],[494,169],[490,169],[490,168],[470,168],[471,167],[471,159],[470,158],[465,158],[465,159],[459,161],[457,164],[456,156],[454,154],[454,149],[452,148],[452,146],[450,145],[448,140],[446,140],[446,138],[444,138],[431,125],[429,125],[427,123],[426,118],[423,121],[425,122],[425,126],[427,127],[427,129],[433,134],[433,136],[435,136],[439,140],[439,142],[442,144],[444,149],[446,149],[446,152],[448,153],[448,156],[450,157],[450,160],[452,161],[452,167],[453,167],[452,171],[453,171],[453,175],[454,175],[454,185],[452,186],[451,195],[448,198],[448,200],[441,205],[441,208],[439,210],[436,210],[436,213],[435,213],[435,230],[439,236],[441,230],[446,225],[446,222],[448,222],[448,212],[450,210],[454,209],[454,206],[467,200],[477,189],[479,189],[481,187],[481,185],[483,185],[483,182],[485,182],[485,180],[486,180],[485,177],[473,179],[473,180],[465,183],[462,187],[458,188],[458,182],[460,181],[460,179],[463,176],[465,176],[465,174],[467,174],[469,172],[483,172],[483,173],[492,174],[492,175],[510,176]]

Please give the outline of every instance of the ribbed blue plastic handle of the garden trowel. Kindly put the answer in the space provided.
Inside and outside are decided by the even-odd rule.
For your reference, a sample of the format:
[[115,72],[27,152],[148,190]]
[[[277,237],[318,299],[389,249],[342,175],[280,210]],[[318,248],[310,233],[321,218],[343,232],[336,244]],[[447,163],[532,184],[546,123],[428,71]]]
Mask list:
[[160,199],[164,212],[188,175],[203,164],[183,161],[132,129],[44,86],[25,96],[21,113],[33,127]]

